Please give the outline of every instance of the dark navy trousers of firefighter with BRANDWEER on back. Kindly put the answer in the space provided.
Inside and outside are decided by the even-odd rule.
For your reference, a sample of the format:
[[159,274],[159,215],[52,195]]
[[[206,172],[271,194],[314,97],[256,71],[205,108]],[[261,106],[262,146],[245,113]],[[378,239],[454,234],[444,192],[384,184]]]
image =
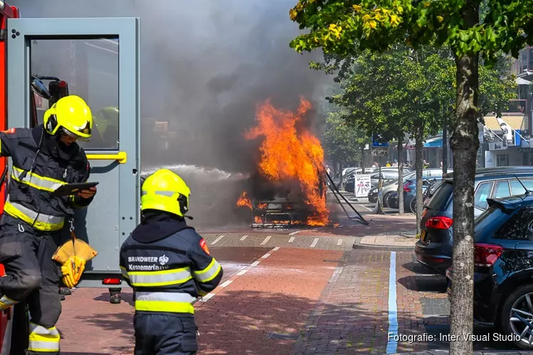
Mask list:
[[134,355],[196,354],[193,315],[167,312],[135,312]]

